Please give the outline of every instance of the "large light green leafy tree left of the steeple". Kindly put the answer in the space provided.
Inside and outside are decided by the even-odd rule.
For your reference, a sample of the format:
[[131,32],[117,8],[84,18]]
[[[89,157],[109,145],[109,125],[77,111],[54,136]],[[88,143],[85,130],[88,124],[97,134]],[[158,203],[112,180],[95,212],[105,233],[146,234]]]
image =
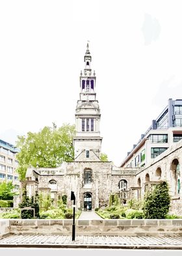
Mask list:
[[38,133],[27,133],[18,136],[16,146],[19,166],[17,168],[21,180],[25,178],[29,165],[32,167],[58,167],[63,161],[73,161],[73,136],[75,125],[64,124],[57,128],[45,126]]

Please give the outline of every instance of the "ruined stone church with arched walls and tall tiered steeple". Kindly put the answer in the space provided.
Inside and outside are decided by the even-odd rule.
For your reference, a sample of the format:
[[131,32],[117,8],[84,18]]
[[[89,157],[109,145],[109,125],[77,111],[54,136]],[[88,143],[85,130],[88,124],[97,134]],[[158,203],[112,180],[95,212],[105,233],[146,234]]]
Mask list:
[[84,61],[85,69],[80,74],[80,93],[75,109],[75,160],[64,162],[57,168],[29,167],[21,188],[26,186],[30,197],[35,191],[50,193],[55,205],[62,195],[66,195],[68,206],[72,205],[70,196],[74,191],[76,207],[92,210],[109,204],[109,196],[115,193],[120,197],[121,204],[127,204],[130,199],[140,200],[152,185],[166,180],[172,195],[171,211],[182,214],[182,192],[179,189],[182,140],[146,165],[115,167],[110,161],[101,161],[101,114],[96,98],[96,74],[91,69],[92,57],[88,44]]

